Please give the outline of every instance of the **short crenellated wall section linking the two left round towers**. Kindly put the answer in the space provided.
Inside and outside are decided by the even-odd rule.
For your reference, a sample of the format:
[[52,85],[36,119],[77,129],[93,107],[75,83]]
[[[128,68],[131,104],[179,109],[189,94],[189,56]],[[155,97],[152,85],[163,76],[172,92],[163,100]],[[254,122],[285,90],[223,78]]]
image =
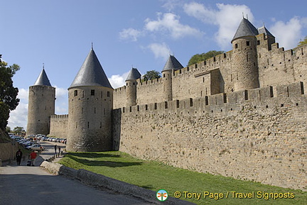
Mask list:
[[68,135],[68,115],[52,115],[50,117],[49,136],[57,138],[67,138]]

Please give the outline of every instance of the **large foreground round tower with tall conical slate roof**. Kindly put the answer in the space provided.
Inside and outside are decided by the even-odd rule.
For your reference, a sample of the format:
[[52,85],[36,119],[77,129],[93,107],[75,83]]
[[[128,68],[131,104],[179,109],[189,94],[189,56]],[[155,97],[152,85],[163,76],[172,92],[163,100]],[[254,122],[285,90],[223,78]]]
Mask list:
[[93,49],[68,88],[67,150],[112,150],[113,88]]

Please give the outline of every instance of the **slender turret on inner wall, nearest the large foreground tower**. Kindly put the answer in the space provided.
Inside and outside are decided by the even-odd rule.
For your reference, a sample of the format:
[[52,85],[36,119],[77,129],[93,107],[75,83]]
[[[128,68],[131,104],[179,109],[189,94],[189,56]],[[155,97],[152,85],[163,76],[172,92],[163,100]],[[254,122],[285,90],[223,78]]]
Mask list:
[[130,70],[126,78],[126,106],[136,105],[136,79],[141,77],[141,73],[136,68]]

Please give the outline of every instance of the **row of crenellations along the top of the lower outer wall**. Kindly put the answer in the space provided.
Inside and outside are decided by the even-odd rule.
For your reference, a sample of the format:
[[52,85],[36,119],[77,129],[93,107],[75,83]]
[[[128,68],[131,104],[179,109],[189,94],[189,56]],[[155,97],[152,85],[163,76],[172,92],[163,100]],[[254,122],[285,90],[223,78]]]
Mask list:
[[[291,98],[291,103],[289,103]],[[303,82],[297,82],[276,87],[263,87],[259,89],[243,90],[229,94],[221,93],[195,99],[182,99],[163,101],[136,106],[124,106],[120,108],[123,114],[146,113],[175,113],[183,115],[208,115],[221,116],[232,115],[244,109],[249,104],[253,109],[262,109],[262,112],[283,107],[305,106],[306,101]]]

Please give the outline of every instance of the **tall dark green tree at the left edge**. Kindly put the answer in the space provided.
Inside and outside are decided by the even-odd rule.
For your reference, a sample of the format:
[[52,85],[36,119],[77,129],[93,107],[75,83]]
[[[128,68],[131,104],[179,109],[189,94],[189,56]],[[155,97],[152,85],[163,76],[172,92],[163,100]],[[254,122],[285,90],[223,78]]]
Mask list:
[[20,67],[16,64],[8,66],[0,59],[0,128],[5,130],[9,112],[16,109],[19,99],[18,88],[13,86],[12,77]]

